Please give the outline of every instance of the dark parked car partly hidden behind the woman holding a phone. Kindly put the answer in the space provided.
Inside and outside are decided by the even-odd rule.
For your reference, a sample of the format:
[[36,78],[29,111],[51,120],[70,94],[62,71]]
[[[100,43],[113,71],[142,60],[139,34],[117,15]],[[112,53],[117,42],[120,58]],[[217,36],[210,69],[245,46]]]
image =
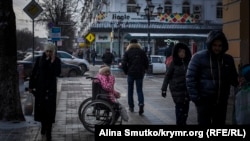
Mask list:
[[[41,55],[35,55],[34,61],[33,56],[29,55],[28,57],[24,58],[23,60],[17,61],[17,65],[22,65],[23,67],[23,77],[24,79],[27,79],[30,77],[34,62]],[[76,76],[82,76],[82,70],[81,67],[73,64],[68,64],[63,61],[61,61],[61,77],[76,77]]]

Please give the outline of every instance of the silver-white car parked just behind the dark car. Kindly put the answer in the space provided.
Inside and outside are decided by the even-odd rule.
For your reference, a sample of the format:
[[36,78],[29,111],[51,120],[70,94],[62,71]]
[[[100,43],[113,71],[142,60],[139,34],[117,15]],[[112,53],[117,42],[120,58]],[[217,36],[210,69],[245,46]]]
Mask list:
[[[42,51],[35,51],[35,55],[39,54],[42,55]],[[57,56],[61,59],[62,62],[68,63],[68,64],[74,64],[77,66],[80,66],[82,69],[82,74],[89,71],[89,62],[86,59],[80,59],[77,58],[65,51],[58,50]]]

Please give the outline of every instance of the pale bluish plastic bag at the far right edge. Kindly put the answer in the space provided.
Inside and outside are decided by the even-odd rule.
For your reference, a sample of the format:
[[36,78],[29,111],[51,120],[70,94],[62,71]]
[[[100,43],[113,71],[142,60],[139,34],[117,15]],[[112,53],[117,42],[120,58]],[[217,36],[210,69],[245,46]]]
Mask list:
[[250,85],[241,88],[235,96],[235,120],[236,124],[250,124]]

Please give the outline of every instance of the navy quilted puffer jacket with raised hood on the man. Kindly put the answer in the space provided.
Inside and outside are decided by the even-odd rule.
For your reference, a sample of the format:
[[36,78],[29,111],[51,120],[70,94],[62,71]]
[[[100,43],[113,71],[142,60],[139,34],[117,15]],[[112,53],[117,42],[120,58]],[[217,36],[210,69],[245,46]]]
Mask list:
[[[212,43],[222,41],[222,52],[214,54]],[[230,85],[238,85],[238,75],[232,56],[225,54],[228,43],[221,31],[211,32],[206,41],[207,50],[197,52],[191,59],[187,75],[187,89],[191,100],[196,104],[203,101],[227,103]]]

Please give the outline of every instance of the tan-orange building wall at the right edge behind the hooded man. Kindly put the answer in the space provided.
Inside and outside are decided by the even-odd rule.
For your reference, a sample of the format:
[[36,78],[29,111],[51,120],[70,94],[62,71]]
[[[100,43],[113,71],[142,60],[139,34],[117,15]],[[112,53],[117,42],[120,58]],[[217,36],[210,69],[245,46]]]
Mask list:
[[223,0],[223,31],[237,68],[250,63],[249,0]]

